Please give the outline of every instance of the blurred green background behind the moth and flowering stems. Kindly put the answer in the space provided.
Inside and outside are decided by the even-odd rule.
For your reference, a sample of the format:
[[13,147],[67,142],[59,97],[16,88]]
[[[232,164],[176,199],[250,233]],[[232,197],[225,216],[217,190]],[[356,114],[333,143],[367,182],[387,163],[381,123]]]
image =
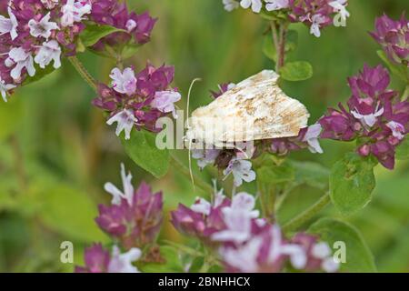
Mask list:
[[[364,63],[380,64],[379,49],[367,34],[374,18],[384,12],[394,18],[408,7],[407,0],[351,0],[347,27],[328,27],[321,38],[309,35],[304,25],[293,60],[314,66],[314,77],[286,83],[288,95],[298,97],[312,113],[311,122],[328,105],[350,94],[346,77]],[[222,0],[131,0],[138,13],[149,10],[159,18],[152,42],[145,45],[129,65],[142,69],[147,59],[154,65],[175,65],[175,85],[186,93],[195,77],[192,107],[211,101],[208,91],[225,81],[237,82],[273,63],[262,53],[266,23],[242,9],[227,13]],[[107,81],[113,67],[107,59],[79,55],[92,75]],[[401,84],[394,84],[400,88]],[[42,82],[18,89],[8,104],[0,104],[0,271],[70,272],[73,265],[60,262],[60,244],[72,241],[75,264],[82,264],[85,246],[109,243],[96,227],[97,204],[108,203],[105,182],[120,185],[121,162],[155,190],[164,189],[166,211],[179,202],[193,203],[190,181],[175,171],[155,180],[125,156],[113,128],[103,113],[91,105],[95,96],[65,62],[63,68]],[[185,99],[180,107],[185,107]],[[292,157],[332,166],[352,145],[324,142],[324,155],[308,152]],[[186,160],[187,153],[176,153]],[[359,214],[347,219],[363,233],[374,252],[380,271],[409,270],[409,163],[400,161],[394,172],[376,167],[374,200]],[[195,169],[197,171],[197,169]],[[217,175],[210,169],[199,173],[205,180]],[[254,190],[249,186],[249,191]],[[298,189],[300,190],[300,189]],[[313,203],[322,191],[303,187],[284,201],[280,222]],[[337,216],[332,207],[323,215]],[[165,219],[160,237],[182,240]]]

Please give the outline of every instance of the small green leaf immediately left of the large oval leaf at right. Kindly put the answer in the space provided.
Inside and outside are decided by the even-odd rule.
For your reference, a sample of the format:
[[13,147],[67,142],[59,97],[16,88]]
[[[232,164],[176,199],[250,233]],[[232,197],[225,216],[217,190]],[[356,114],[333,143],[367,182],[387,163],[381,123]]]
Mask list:
[[315,188],[328,189],[330,170],[314,162],[290,161],[295,169],[295,183],[297,185],[306,184]]

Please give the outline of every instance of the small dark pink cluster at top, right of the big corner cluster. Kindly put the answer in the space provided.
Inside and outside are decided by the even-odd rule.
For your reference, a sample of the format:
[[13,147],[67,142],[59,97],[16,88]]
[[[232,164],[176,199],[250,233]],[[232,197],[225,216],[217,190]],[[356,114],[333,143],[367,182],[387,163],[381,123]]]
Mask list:
[[111,25],[123,30],[101,39],[94,45],[94,49],[98,51],[104,51],[105,45],[117,49],[124,48],[126,44],[144,45],[150,40],[156,23],[156,19],[148,13],[129,13],[125,1],[121,3],[118,0],[94,1],[90,19],[96,24]]

